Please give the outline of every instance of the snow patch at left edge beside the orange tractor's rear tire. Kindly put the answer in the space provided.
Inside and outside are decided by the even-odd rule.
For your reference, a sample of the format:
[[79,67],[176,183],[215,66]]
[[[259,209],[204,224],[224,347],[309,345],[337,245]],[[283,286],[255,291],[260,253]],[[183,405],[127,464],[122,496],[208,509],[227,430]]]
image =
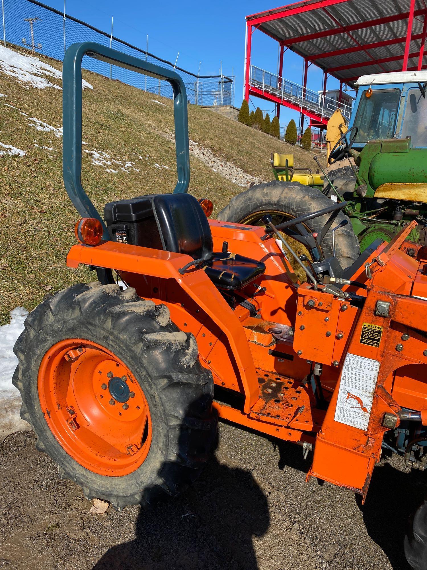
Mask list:
[[15,431],[31,429],[19,416],[19,390],[12,384],[12,376],[18,364],[13,347],[24,329],[24,320],[28,311],[17,307],[10,312],[10,323],[0,327],[0,443],[7,435]]

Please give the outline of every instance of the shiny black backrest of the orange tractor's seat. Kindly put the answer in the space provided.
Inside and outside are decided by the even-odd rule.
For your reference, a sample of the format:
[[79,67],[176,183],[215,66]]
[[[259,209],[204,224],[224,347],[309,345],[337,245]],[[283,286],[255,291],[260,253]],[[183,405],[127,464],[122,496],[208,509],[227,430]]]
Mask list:
[[193,259],[211,257],[211,228],[194,196],[157,194],[153,198],[153,210],[166,251],[184,253]]

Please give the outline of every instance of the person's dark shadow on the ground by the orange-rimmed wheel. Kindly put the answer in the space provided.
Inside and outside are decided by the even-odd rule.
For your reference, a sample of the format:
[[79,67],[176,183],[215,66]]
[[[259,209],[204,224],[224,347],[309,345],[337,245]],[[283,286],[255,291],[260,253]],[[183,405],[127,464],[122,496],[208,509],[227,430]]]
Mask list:
[[257,570],[253,536],[269,528],[252,474],[212,459],[179,498],[141,508],[136,538],[110,548],[93,570]]

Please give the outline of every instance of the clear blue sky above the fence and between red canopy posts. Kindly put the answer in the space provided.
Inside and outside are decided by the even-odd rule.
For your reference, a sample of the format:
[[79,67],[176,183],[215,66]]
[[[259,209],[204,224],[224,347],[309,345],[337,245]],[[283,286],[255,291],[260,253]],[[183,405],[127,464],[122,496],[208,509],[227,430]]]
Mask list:
[[[6,0],[7,3],[13,0]],[[5,2],[5,3],[6,3]],[[57,10],[63,10],[63,0],[46,0]],[[291,2],[288,2],[291,3]],[[66,11],[92,26],[110,32],[114,17],[113,35],[138,47],[175,62],[178,66],[200,74],[217,74],[222,61],[223,73],[236,76],[235,105],[240,107],[243,97],[243,67],[245,47],[245,15],[280,6],[280,0],[217,0],[200,2],[180,0],[172,2],[135,2],[130,0],[66,0]],[[6,34],[7,35],[7,34]],[[259,31],[252,39],[252,63],[267,71],[277,71],[277,42]],[[284,76],[296,83],[302,80],[302,58],[288,50],[285,54]],[[312,64],[307,86],[317,91],[322,88],[323,72]],[[329,88],[338,82],[328,80]],[[253,99],[255,106],[272,111],[266,101]],[[281,124],[298,119],[298,113],[282,107]]]

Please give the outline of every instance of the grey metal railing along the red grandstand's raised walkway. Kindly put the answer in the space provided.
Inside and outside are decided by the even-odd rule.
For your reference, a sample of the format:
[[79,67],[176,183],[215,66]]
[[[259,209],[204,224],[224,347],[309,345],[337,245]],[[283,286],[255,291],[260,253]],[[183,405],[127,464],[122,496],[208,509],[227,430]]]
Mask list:
[[338,103],[330,97],[326,97],[311,91],[307,87],[298,85],[282,78],[280,75],[262,70],[260,67],[251,65],[249,73],[249,86],[260,89],[262,93],[271,93],[281,101],[289,101],[303,110],[309,110],[318,115],[321,120],[328,118],[336,109],[340,109],[346,119],[350,119],[351,106],[345,103]]

